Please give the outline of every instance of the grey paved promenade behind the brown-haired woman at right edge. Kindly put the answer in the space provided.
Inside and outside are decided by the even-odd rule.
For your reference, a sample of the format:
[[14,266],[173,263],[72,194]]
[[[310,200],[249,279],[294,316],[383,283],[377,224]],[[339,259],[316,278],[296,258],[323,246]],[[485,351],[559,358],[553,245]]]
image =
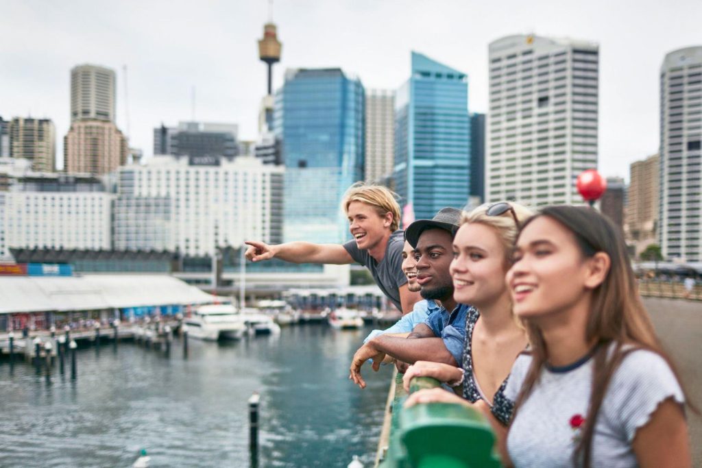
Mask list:
[[[692,401],[702,406],[702,303],[644,297],[663,346],[675,360]],[[702,467],[702,417],[688,412],[692,464]]]

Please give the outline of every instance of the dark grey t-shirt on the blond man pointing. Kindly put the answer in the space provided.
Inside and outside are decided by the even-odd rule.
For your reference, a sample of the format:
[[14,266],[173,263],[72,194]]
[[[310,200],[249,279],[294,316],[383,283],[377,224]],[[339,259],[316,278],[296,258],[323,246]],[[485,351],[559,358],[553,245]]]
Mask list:
[[399,302],[399,287],[407,282],[407,277],[402,272],[402,247],[404,246],[404,231],[398,229],[390,234],[388,245],[385,246],[385,257],[376,262],[371,257],[368,250],[361,250],[356,245],[356,241],[348,241],[344,248],[356,262],[368,268],[376,280],[376,284],[383,294],[395,304],[395,307],[402,312],[402,304]]

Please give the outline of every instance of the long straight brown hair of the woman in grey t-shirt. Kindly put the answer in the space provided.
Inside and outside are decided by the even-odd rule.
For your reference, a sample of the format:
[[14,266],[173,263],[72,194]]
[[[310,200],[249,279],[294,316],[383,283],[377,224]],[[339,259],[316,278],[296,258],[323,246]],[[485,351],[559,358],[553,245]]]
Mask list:
[[[585,328],[585,340],[596,342],[592,392],[588,414],[585,416],[582,434],[574,450],[573,462],[582,462],[589,467],[592,460],[592,440],[595,420],[607,393],[612,375],[626,354],[635,349],[647,349],[660,355],[675,373],[670,358],[663,352],[654,327],[641,302],[633,269],[626,252],[624,239],[614,224],[592,208],[575,206],[550,206],[527,220],[524,227],[537,218],[545,216],[555,220],[573,234],[583,258],[592,258],[595,253],[609,255],[611,265],[600,286],[592,290],[592,312]],[[531,343],[531,366],[517,397],[514,421],[519,406],[529,396],[538,380],[547,359],[546,344],[541,330],[529,320],[524,321]],[[614,346],[609,346],[613,344]],[[625,346],[626,345],[626,346]],[[681,384],[682,386],[682,384]],[[687,394],[686,394],[687,400]],[[689,406],[689,403],[688,403]],[[694,407],[692,407],[694,409]]]

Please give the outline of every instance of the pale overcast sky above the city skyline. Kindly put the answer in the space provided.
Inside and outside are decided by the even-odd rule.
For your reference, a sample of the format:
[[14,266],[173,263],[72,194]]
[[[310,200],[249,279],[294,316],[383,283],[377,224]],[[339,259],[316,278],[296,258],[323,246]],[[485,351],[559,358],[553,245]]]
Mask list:
[[[239,124],[256,138],[265,64],[256,41],[267,0],[0,0],[0,116],[52,119],[62,161],[69,70],[117,71],[117,125],[152,154],[153,128],[195,119]],[[702,45],[702,1],[276,0],[283,43],[274,87],[288,67],[341,67],[366,88],[397,88],[410,51],[468,74],[470,112],[487,109],[487,49],[510,34],[600,44],[600,171],[628,179],[658,149],[658,70],[665,53]]]

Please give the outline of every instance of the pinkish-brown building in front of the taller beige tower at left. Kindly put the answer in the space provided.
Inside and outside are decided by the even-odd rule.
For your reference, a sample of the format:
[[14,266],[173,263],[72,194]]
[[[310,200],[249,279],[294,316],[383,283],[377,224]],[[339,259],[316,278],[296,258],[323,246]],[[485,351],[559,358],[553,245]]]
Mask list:
[[74,121],[63,139],[63,163],[67,172],[110,173],[124,165],[127,156],[127,140],[112,122]]

